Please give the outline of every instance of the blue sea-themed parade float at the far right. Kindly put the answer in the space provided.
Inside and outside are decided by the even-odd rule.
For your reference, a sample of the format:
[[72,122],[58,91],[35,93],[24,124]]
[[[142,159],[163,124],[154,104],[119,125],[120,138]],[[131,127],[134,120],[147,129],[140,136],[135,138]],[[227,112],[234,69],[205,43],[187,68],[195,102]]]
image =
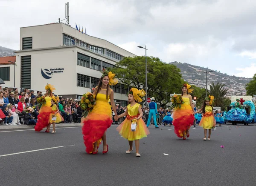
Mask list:
[[256,122],[255,105],[251,96],[231,96],[231,104],[224,112],[224,121],[236,125]]

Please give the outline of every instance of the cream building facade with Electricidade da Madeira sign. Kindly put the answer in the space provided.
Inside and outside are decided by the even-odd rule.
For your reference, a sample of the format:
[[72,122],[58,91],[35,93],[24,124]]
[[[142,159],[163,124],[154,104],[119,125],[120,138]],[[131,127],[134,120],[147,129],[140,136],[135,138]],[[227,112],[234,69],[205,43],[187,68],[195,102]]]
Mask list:
[[[44,90],[50,83],[55,94],[80,99],[99,83],[102,68],[113,68],[123,57],[134,54],[97,37],[82,34],[64,24],[20,28],[16,51],[17,87]],[[113,86],[114,99],[127,104],[128,87]]]

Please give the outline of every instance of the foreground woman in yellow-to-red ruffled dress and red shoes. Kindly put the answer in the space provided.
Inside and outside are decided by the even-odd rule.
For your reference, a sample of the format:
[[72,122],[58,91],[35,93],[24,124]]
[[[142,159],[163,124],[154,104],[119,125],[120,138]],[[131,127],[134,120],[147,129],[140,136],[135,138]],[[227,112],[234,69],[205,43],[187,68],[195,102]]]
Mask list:
[[[113,123],[111,106],[117,116],[114,93],[109,86],[116,85],[118,80],[113,79],[115,74],[112,74],[112,72],[103,69],[102,73],[103,75],[99,79],[99,84],[93,91],[96,105],[87,117],[81,121],[81,123],[83,123],[82,133],[84,135],[83,138],[86,152],[93,155],[98,153],[101,141],[103,141],[102,153],[105,154],[108,152],[106,131]],[[111,100],[111,106],[108,103],[109,99]]]

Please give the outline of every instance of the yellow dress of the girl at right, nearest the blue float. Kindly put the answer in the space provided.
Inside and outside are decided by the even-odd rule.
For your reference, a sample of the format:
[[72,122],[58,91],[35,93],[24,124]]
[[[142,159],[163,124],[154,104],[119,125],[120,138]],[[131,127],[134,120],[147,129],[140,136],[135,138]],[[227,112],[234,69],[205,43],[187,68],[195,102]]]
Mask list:
[[199,126],[204,129],[212,129],[213,126],[216,126],[215,117],[212,115],[212,106],[205,106],[205,113],[203,114]]

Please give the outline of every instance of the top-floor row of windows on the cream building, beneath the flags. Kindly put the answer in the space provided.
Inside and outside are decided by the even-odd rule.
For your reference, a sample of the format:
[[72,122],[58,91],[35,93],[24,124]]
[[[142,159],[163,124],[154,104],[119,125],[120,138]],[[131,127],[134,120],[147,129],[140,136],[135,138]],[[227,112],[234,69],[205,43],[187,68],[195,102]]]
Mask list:
[[[105,49],[105,48],[102,48],[102,47],[99,47],[99,46],[90,45],[88,43],[85,43],[82,40],[76,39],[75,37],[71,37],[67,34],[63,34],[63,44],[67,45],[67,46],[80,45],[82,47],[87,47],[87,49],[89,49],[93,52],[96,52],[98,54],[105,54],[106,53],[107,56],[113,57],[116,60],[122,60],[123,59],[123,56],[120,55],[120,54],[117,54],[116,52],[113,52],[111,50],[108,50],[108,49]],[[106,52],[105,52],[105,50],[106,50]]]

